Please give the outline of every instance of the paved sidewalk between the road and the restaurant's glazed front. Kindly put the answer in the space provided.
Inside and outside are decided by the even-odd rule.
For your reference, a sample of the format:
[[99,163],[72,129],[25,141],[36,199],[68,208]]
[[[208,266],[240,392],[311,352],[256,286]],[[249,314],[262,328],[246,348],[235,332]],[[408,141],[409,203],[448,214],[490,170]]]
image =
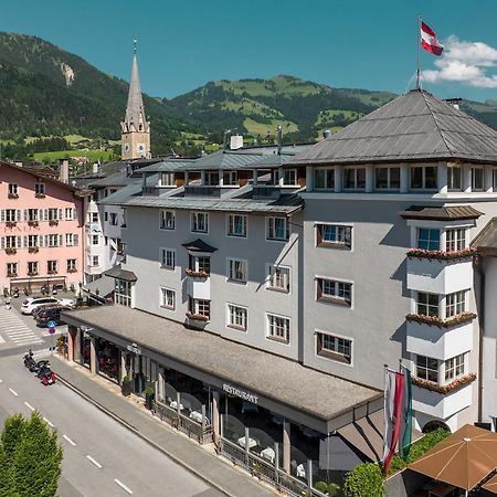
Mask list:
[[154,419],[144,408],[133,404],[112,390],[92,380],[81,367],[53,356],[52,367],[61,382],[87,399],[106,414],[161,451],[175,462],[194,473],[208,485],[230,497],[269,497],[275,491],[221,461],[195,442]]

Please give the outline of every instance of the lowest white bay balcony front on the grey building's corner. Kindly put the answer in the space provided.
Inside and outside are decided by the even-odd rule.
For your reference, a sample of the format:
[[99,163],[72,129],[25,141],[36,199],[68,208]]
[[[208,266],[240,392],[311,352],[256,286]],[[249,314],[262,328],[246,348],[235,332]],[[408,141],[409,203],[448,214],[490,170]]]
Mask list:
[[[446,420],[463,409],[469,406],[473,401],[473,379],[459,388],[443,393],[413,384],[412,409],[422,413]],[[457,380],[456,380],[457,381]]]

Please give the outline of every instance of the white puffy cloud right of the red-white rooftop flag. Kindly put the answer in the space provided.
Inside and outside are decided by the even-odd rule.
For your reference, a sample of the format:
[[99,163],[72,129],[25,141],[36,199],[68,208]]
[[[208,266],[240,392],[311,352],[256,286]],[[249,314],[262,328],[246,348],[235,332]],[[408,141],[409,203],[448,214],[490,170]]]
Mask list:
[[459,41],[448,36],[444,52],[435,61],[436,70],[426,70],[422,80],[427,83],[458,82],[479,88],[497,88],[497,50],[482,42]]

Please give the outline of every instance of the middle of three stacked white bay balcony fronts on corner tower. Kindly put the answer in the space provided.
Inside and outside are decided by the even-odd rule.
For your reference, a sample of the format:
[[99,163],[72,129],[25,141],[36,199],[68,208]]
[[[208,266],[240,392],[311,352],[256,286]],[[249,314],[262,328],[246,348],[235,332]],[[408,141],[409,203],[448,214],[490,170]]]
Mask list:
[[405,347],[408,352],[446,360],[472,350],[473,334],[472,321],[461,322],[452,328],[408,321]]

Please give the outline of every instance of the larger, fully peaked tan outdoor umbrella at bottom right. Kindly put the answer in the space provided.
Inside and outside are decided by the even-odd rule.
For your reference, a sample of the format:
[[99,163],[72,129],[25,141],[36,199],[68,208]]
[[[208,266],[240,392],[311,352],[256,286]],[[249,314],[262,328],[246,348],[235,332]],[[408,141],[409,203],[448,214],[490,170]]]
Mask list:
[[465,424],[409,468],[465,490],[497,467],[497,433]]

